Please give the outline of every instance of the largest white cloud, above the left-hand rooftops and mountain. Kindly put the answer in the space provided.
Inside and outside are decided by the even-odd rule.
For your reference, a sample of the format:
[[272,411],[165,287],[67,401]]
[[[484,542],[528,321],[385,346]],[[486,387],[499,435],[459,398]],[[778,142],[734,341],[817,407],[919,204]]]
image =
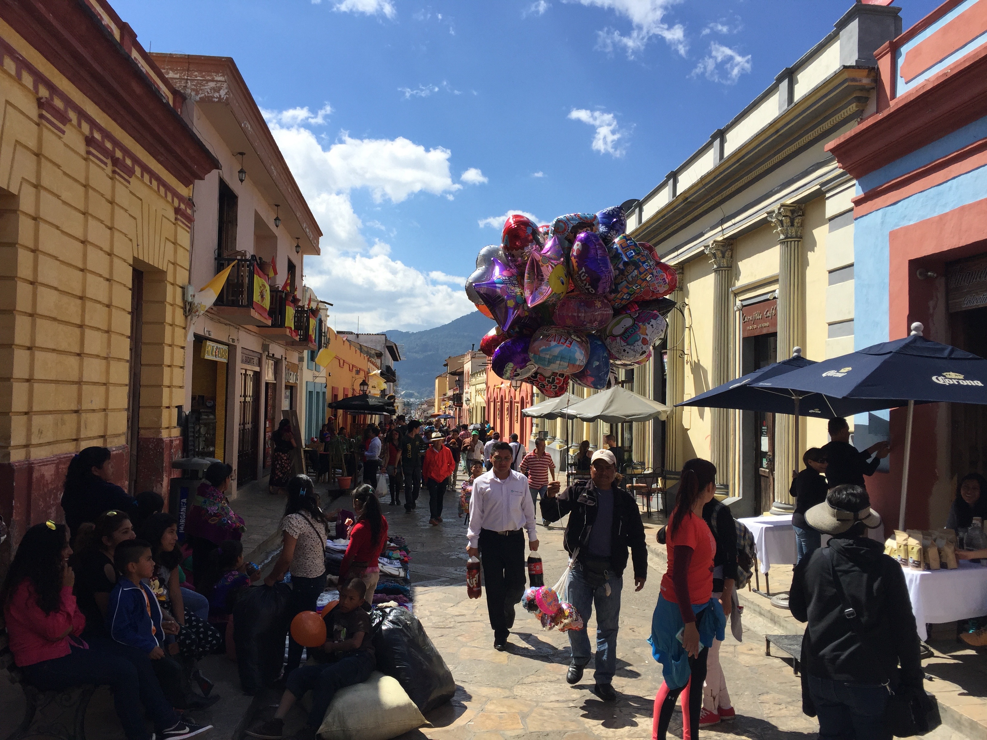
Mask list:
[[[291,122],[300,115],[285,112],[268,111],[266,118],[324,234],[321,257],[305,259],[304,268],[306,284],[335,304],[330,323],[355,329],[359,318],[360,329],[369,331],[416,330],[474,311],[463,278],[422,272],[397,259],[390,244],[368,243],[349,197],[361,187],[378,202],[397,203],[418,192],[451,194],[462,185],[452,180],[449,150],[426,149],[404,137],[356,139],[344,131],[324,147],[311,129]],[[366,226],[386,232],[377,221]]]

